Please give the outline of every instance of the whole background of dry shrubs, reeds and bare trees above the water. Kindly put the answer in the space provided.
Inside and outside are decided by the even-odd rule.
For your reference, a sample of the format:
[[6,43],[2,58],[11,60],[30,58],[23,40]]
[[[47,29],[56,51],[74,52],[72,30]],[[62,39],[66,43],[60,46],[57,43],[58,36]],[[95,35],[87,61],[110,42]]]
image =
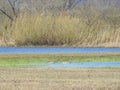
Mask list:
[[[40,0],[37,4],[26,0],[23,4],[29,12],[26,9],[23,12],[15,7],[19,0],[8,1],[1,1],[4,3],[0,6],[3,14],[0,46],[120,47],[117,6],[100,11],[87,4],[77,5],[77,0],[62,0],[61,3]],[[41,3],[46,3],[44,10],[38,7]]]

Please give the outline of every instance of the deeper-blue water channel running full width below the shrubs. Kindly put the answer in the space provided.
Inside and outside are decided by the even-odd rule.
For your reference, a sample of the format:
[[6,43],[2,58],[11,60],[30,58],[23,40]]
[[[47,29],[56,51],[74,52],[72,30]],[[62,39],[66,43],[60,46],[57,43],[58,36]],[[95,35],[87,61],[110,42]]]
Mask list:
[[120,53],[120,48],[0,48],[0,54],[94,54]]

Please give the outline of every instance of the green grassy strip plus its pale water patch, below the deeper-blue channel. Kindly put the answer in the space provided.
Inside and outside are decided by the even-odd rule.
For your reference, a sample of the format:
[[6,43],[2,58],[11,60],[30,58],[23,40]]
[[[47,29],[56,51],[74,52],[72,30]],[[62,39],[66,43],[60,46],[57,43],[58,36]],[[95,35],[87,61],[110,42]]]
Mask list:
[[120,54],[0,55],[0,68],[120,68]]

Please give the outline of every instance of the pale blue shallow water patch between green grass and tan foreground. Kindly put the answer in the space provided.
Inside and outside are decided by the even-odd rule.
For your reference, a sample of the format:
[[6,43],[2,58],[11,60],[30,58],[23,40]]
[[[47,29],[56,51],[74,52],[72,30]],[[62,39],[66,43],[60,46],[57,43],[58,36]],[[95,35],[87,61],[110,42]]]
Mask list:
[[112,68],[119,67],[120,62],[83,62],[83,63],[33,63],[31,68]]

